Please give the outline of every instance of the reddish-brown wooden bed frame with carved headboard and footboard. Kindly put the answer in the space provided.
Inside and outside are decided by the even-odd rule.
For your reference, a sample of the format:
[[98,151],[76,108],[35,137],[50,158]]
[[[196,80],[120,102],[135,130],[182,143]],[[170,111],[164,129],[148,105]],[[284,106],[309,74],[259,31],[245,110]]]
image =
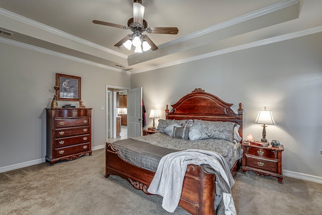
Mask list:
[[[238,113],[218,97],[195,89],[182,97],[176,104],[166,109],[167,119],[201,119],[208,121],[230,121],[240,125],[239,135],[243,137],[243,109],[239,103]],[[239,161],[231,169],[234,175]],[[106,144],[106,175],[118,175],[128,180],[136,189],[146,194],[154,172],[136,167],[119,157],[112,144]],[[215,212],[215,175],[206,173],[202,166],[188,165],[179,205],[191,214],[216,214]]]

